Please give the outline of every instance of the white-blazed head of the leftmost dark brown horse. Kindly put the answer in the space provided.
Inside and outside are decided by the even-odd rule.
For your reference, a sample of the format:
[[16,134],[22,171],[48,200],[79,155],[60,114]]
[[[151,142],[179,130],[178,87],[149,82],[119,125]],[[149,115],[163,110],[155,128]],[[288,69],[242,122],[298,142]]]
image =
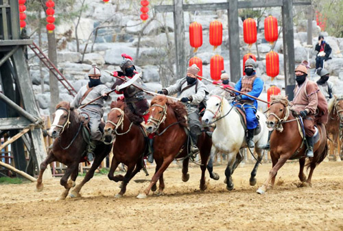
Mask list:
[[69,128],[70,114],[73,108],[70,107],[70,103],[67,101],[62,101],[56,106],[56,112],[54,113],[54,122],[52,123],[49,135],[51,138],[57,138],[64,132],[64,130]]

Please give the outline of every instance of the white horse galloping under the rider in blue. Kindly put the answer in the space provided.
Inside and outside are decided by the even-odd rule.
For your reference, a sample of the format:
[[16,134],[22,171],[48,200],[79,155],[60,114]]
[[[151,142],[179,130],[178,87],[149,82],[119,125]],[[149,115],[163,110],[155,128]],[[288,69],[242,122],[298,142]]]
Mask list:
[[[220,96],[212,95],[207,101],[207,107],[202,117],[202,123],[210,125],[215,123],[215,130],[212,134],[212,141],[217,151],[228,154],[228,165],[225,170],[226,189],[233,190],[232,174],[235,171],[239,162],[243,159],[240,149],[247,147],[245,131],[241,125],[240,116],[235,110],[235,107],[230,106],[228,101]],[[259,147],[265,145],[268,141],[268,128],[265,125],[265,115],[257,111],[261,132],[254,136],[255,151],[258,154],[257,162],[252,169],[250,176],[250,185],[256,184],[256,173],[259,167],[259,162],[263,157],[263,150]]]

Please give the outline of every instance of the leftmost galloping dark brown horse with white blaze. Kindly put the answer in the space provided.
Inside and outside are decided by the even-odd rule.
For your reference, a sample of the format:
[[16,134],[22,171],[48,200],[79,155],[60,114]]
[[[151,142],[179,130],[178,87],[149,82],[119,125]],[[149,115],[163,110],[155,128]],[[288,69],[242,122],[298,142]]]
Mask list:
[[[67,165],[67,169],[60,180],[60,184],[64,186],[65,190],[58,199],[65,199],[71,187],[75,186],[75,180],[78,177],[79,163],[85,161],[83,156],[86,151],[87,143],[82,136],[83,126],[84,117],[82,117],[77,110],[71,108],[69,102],[61,101],[56,106],[54,123],[49,130],[49,135],[52,138],[55,138],[55,141],[52,148],[49,150],[47,158],[40,164],[40,172],[36,184],[37,191],[43,191],[43,173],[47,168],[47,165],[54,161]],[[81,186],[93,178],[95,169],[99,167],[102,160],[104,160],[109,152],[110,145],[105,145],[104,143],[97,145],[95,148],[93,165],[86,173],[84,180],[82,180],[80,184]],[[80,196],[80,194],[78,194],[78,196]]]

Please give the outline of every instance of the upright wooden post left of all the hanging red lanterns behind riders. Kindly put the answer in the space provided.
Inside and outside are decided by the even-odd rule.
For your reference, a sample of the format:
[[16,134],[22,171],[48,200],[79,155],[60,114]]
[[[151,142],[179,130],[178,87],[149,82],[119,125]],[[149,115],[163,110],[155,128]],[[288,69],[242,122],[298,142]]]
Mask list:
[[185,19],[182,10],[183,0],[174,0],[174,38],[176,49],[176,76],[186,74]]

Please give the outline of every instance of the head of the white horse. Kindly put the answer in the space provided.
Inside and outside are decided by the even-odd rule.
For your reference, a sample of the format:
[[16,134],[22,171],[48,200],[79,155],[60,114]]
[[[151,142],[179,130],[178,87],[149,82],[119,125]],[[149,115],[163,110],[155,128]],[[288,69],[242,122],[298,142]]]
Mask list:
[[217,95],[212,95],[207,101],[206,110],[204,116],[202,117],[202,123],[205,125],[210,125],[213,123],[223,110],[223,99]]

